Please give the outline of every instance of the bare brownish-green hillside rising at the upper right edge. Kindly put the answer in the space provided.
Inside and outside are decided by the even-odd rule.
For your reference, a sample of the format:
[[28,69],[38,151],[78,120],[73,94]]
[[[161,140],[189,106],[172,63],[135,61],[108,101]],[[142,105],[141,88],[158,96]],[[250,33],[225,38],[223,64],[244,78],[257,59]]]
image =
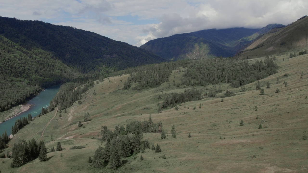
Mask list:
[[286,54],[308,48],[308,18],[302,18],[284,28],[275,29],[258,38],[239,54],[240,57],[256,58],[274,54]]

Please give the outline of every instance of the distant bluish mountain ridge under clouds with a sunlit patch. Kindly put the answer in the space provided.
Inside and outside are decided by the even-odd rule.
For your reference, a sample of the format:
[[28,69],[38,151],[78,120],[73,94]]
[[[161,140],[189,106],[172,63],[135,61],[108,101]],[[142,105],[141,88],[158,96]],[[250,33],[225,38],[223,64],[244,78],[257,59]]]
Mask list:
[[259,35],[281,24],[270,24],[261,29],[229,28],[200,30],[170,37],[157,38],[140,46],[165,59],[191,59],[207,57],[230,57]]

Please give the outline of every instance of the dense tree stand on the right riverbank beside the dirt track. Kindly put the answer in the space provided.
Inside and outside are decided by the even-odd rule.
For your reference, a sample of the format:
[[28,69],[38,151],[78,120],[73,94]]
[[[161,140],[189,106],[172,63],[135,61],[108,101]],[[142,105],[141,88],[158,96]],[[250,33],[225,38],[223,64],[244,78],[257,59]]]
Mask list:
[[53,111],[59,106],[59,110],[69,108],[77,100],[82,99],[82,94],[94,86],[93,81],[88,81],[80,86],[79,83],[69,82],[60,86],[58,93],[49,104],[49,111]]

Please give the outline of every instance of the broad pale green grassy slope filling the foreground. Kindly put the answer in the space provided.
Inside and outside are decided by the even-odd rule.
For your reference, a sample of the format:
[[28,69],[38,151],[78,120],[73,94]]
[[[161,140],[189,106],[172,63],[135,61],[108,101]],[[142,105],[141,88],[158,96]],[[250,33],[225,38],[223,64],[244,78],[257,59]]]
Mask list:
[[[249,59],[249,62],[263,60],[265,57]],[[282,60],[284,58],[284,61]],[[12,159],[0,159],[2,172],[307,172],[307,95],[308,55],[287,58],[277,57],[278,73],[261,79],[265,90],[260,95],[256,90],[257,82],[232,88],[221,83],[223,92],[216,98],[204,96],[200,101],[186,102],[165,109],[157,114],[165,95],[180,92],[191,87],[162,85],[138,90],[122,90],[128,74],[106,78],[96,83],[83,95],[82,104],[75,102],[67,113],[52,111],[30,122],[11,139],[14,143],[21,140],[44,140],[48,148],[56,147],[60,141],[63,151],[47,154],[47,162],[31,161],[18,168],[10,168]],[[185,69],[173,70],[168,81],[180,83]],[[277,83],[277,78],[279,81]],[[284,84],[287,82],[287,86]],[[265,88],[267,82],[270,88]],[[171,85],[169,85],[171,84]],[[132,83],[132,88],[138,83]],[[195,86],[202,93],[213,85]],[[218,85],[216,86],[218,87]],[[275,93],[277,88],[281,91]],[[225,91],[232,93],[226,97]],[[93,94],[95,93],[97,94]],[[220,98],[220,96],[222,98]],[[200,106],[201,105],[201,106]],[[199,108],[199,106],[201,108]],[[193,109],[193,107],[197,107]],[[85,128],[78,127],[85,113],[92,120]],[[95,150],[102,146],[101,126],[113,131],[115,125],[126,125],[133,120],[147,120],[151,114],[153,122],[162,121],[167,138],[160,134],[144,133],[150,144],[159,144],[162,152],[132,155],[124,166],[116,171],[109,168],[96,169],[88,163]],[[54,118],[53,118],[54,117]],[[256,119],[258,117],[258,119]],[[50,121],[48,126],[47,122]],[[244,126],[240,126],[243,120]],[[259,125],[261,129],[258,129]],[[171,127],[175,125],[176,138],[171,137]],[[42,132],[45,129],[43,135]],[[191,138],[188,138],[188,133]],[[51,141],[53,135],[53,141]],[[73,146],[83,149],[69,150]],[[62,156],[61,156],[62,155]],[[144,160],[140,160],[140,155]],[[162,156],[165,155],[166,159]],[[134,159],[135,158],[135,159]]]

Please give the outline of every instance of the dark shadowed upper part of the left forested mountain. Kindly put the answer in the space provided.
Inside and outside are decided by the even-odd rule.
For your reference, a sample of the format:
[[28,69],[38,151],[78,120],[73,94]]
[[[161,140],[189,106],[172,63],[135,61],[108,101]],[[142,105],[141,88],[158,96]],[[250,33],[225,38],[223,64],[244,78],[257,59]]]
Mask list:
[[0,34],[9,40],[27,50],[36,47],[52,52],[83,73],[99,70],[103,65],[124,69],[163,61],[149,51],[69,26],[6,17],[0,17],[0,23]]

